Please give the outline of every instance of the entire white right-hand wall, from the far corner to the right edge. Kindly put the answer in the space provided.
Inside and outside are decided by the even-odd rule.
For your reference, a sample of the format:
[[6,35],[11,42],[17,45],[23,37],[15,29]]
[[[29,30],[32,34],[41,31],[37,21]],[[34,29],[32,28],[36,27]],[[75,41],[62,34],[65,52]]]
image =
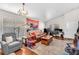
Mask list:
[[47,22],[47,26],[52,24],[59,24],[60,28],[63,29],[65,38],[74,38],[74,34],[77,31],[79,21],[79,9],[72,10],[58,18],[52,19]]

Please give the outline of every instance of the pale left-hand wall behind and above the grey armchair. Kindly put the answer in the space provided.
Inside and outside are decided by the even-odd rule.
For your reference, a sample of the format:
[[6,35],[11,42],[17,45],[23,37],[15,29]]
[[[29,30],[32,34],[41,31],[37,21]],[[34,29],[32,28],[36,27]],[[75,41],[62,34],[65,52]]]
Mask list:
[[25,19],[14,13],[0,9],[0,41],[2,40],[3,33],[14,32],[14,27],[17,26],[17,23],[21,23],[22,20]]

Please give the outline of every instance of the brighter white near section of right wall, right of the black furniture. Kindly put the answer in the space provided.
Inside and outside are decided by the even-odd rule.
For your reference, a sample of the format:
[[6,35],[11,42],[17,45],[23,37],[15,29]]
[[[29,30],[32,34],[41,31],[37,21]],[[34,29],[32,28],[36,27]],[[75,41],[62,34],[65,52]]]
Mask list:
[[79,21],[79,9],[71,11],[64,15],[65,20],[65,37],[74,37],[74,34],[78,28],[78,21]]

